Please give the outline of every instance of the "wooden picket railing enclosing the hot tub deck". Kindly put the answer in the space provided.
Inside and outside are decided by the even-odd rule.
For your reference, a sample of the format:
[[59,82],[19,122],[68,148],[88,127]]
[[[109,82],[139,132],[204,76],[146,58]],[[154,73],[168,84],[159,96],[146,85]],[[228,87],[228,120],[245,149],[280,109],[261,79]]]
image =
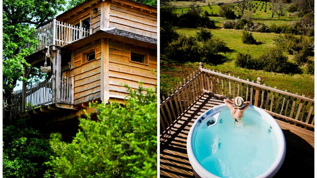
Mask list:
[[[174,106],[177,107],[180,104],[185,104],[186,107],[190,106],[199,96],[194,95],[194,93],[212,93],[222,99],[241,96],[245,101],[251,101],[251,104],[285,122],[314,130],[314,99],[298,95],[298,93],[290,93],[287,90],[276,89],[276,87],[271,88],[261,84],[261,78],[258,78],[257,82],[248,79],[242,80],[239,77],[236,78],[230,74],[224,75],[202,66],[200,66],[199,71],[199,73],[195,72],[195,76],[184,80],[181,87],[177,87],[170,96],[166,99],[163,98],[160,104],[161,133],[168,130],[168,127],[181,116],[175,112]],[[195,81],[199,85],[192,88],[193,82],[190,81]],[[181,91],[187,95],[179,94]]]

